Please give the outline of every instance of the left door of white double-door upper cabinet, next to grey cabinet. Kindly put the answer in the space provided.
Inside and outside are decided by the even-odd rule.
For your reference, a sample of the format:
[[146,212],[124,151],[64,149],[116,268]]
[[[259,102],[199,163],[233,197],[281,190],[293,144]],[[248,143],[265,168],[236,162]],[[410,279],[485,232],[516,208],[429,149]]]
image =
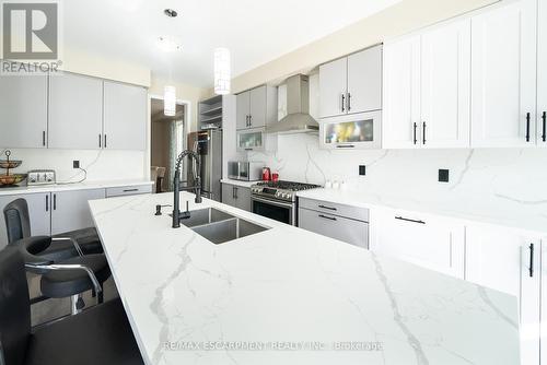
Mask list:
[[382,146],[411,149],[420,142],[420,37],[384,45]]

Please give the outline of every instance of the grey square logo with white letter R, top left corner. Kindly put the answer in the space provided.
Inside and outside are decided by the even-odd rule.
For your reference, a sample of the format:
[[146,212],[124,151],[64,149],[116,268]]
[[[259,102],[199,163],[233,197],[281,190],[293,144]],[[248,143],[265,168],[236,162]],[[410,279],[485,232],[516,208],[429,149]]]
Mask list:
[[3,2],[3,59],[56,60],[59,56],[57,2]]

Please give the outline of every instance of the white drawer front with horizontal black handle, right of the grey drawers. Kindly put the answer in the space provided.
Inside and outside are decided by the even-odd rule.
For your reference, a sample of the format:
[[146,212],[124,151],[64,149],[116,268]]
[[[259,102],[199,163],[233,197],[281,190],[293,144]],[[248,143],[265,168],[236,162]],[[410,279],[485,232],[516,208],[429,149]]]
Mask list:
[[439,216],[395,210],[371,211],[370,249],[377,255],[464,278],[465,227]]

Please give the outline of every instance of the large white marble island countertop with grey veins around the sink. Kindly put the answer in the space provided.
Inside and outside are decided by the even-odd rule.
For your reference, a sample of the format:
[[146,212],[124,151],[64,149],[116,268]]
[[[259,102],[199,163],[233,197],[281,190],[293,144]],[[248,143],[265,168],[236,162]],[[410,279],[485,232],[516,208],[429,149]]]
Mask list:
[[510,295],[183,192],[271,227],[213,245],[172,198],[90,202],[147,364],[520,364]]

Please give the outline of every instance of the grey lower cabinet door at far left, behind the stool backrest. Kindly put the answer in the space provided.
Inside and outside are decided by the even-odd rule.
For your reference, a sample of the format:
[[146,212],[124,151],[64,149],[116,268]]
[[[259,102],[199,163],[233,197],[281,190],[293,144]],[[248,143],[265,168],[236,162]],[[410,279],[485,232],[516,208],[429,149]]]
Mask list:
[[28,204],[28,215],[31,220],[31,234],[33,236],[48,236],[50,234],[49,226],[49,210],[50,210],[50,197],[49,192],[40,193],[25,193],[25,195],[13,195],[13,196],[1,196],[0,197],[0,249],[2,249],[8,244],[8,234],[5,228],[5,221],[3,216],[3,209],[10,202],[15,199],[25,199]]

